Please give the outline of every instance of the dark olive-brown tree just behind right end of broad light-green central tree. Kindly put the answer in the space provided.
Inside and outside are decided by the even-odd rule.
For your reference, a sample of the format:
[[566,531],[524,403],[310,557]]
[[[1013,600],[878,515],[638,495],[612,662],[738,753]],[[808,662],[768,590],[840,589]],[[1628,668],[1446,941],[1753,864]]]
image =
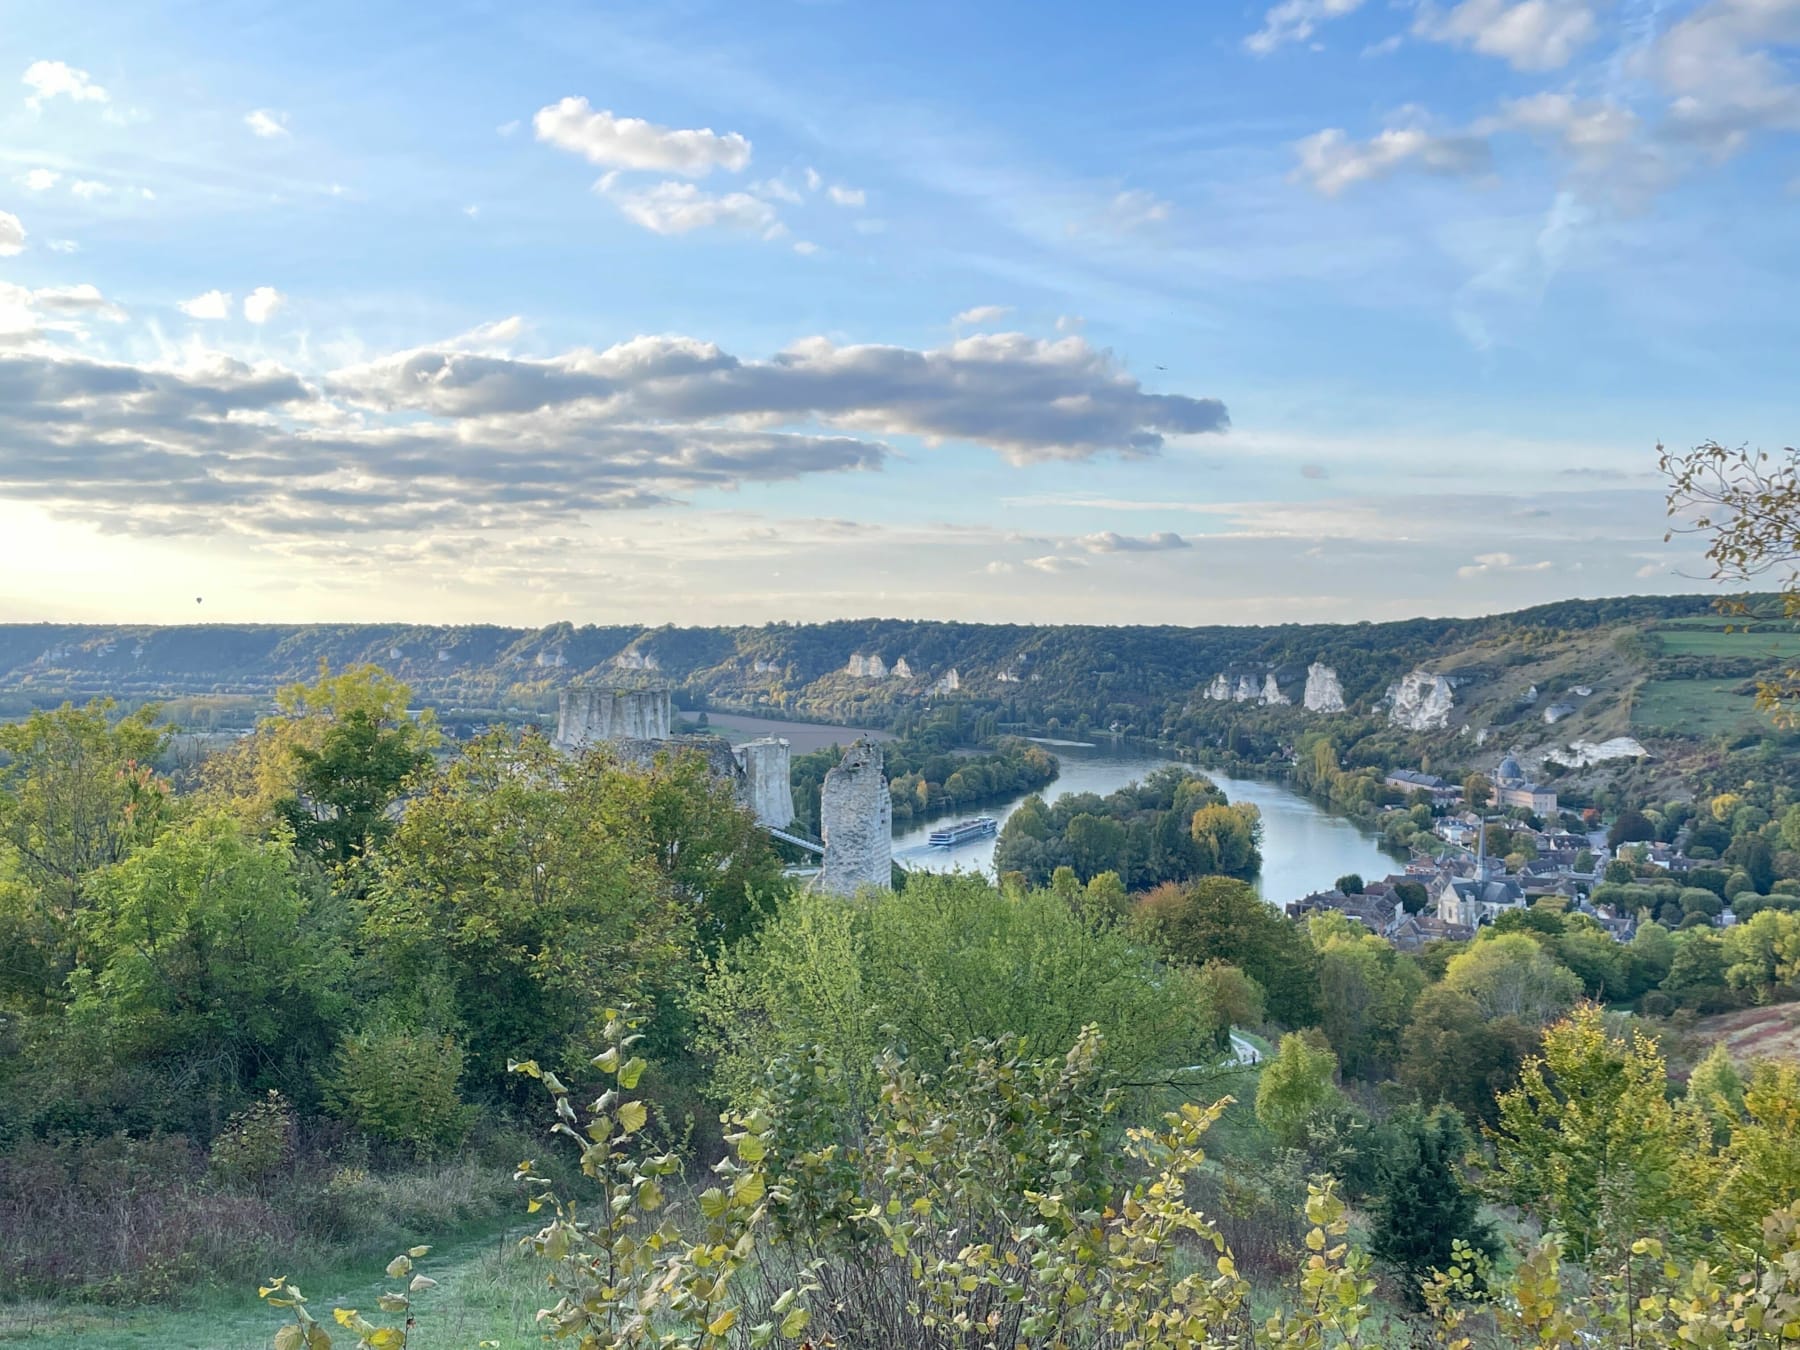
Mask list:
[[1283,1026],[1318,1022],[1318,958],[1307,934],[1247,884],[1202,877],[1138,902],[1132,931],[1184,965],[1228,961],[1255,979]]

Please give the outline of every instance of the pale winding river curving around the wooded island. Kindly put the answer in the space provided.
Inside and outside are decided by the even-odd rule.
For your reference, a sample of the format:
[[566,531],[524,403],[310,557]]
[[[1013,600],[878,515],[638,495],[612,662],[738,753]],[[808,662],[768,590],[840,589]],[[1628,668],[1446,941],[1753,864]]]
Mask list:
[[[1044,797],[1055,801],[1069,792],[1098,792],[1143,778],[1165,765],[1181,763],[1152,751],[1125,745],[1069,745],[1048,743],[1062,761],[1057,781],[1044,788]],[[1190,769],[1193,765],[1188,765]],[[1400,862],[1377,848],[1373,835],[1364,833],[1341,815],[1262,778],[1228,778],[1206,769],[1224,794],[1233,801],[1251,801],[1262,810],[1262,875],[1258,893],[1271,904],[1285,904],[1303,895],[1323,891],[1345,873],[1386,877],[1399,871]],[[1001,824],[1030,794],[986,806],[979,814],[995,817]],[[970,812],[974,815],[976,812]],[[925,824],[909,826],[895,835],[895,857],[913,869],[925,871],[985,871],[994,873],[994,839],[974,839],[959,848],[932,848],[931,832],[947,823],[936,817]]]

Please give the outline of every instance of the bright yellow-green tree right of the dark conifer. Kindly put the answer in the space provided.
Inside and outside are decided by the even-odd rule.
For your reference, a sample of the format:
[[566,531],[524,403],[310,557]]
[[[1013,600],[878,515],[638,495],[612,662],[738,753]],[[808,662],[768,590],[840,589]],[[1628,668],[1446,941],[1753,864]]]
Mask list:
[[1669,1100],[1656,1042],[1607,1035],[1593,1004],[1544,1031],[1490,1138],[1496,1199],[1555,1224],[1580,1256],[1633,1233],[1690,1235],[1705,1213],[1712,1127]]

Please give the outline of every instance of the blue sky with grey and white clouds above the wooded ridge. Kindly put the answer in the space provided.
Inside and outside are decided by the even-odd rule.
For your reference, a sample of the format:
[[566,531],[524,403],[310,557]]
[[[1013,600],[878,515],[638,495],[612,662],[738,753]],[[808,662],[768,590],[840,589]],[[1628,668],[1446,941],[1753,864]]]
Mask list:
[[1706,589],[1800,0],[0,0],[0,621]]

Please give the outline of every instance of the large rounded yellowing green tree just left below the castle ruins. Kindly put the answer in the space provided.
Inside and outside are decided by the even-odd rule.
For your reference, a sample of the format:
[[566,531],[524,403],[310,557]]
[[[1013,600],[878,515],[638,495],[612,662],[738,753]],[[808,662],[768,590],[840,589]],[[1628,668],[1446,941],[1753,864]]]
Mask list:
[[614,794],[643,790],[605,756],[495,733],[414,797],[376,855],[367,940],[394,999],[448,994],[475,1082],[502,1084],[520,1053],[572,1053],[608,1003],[679,988],[693,914],[643,839],[603,824]]

